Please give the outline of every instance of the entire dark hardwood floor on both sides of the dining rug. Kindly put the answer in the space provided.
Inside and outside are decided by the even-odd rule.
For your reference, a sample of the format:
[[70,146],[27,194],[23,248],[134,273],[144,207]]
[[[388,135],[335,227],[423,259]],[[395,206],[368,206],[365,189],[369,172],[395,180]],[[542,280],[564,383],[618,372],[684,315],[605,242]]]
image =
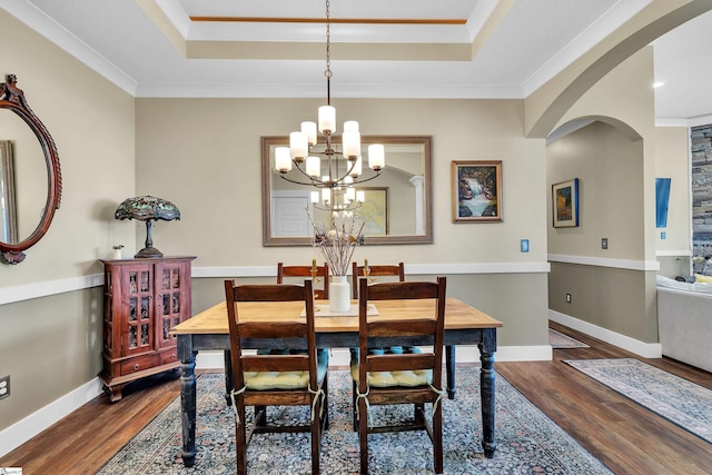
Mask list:
[[[616,474],[710,474],[712,444],[681,429],[566,364],[633,354],[560,325],[590,348],[555,349],[552,362],[495,363],[497,372]],[[712,374],[669,358],[644,359],[712,389]],[[123,399],[97,397],[0,458],[23,475],[93,474],[179,394],[170,373],[129,385]]]

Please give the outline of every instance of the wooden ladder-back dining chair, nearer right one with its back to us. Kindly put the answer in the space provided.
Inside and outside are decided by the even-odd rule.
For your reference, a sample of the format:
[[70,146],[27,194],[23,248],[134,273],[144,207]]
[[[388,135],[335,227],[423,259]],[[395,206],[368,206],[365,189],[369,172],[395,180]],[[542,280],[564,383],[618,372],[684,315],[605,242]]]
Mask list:
[[[433,443],[435,473],[443,473],[443,335],[445,327],[446,278],[437,283],[359,283],[358,359],[352,362],[353,405],[358,422],[360,473],[368,473],[368,435],[383,432],[425,431]],[[379,319],[367,315],[368,304],[378,300],[435,299],[431,318]],[[428,307],[429,308],[429,307]],[[424,352],[415,344],[431,345]],[[403,346],[409,352],[369,352],[369,347]],[[397,425],[370,424],[376,405],[414,405],[414,417]],[[432,423],[425,404],[433,405]]]

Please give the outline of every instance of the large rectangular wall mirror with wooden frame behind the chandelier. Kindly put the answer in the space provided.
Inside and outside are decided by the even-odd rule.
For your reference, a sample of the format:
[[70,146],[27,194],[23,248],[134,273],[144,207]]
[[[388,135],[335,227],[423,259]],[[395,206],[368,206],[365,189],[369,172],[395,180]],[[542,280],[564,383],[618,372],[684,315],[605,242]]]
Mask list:
[[[386,156],[386,167],[379,177],[355,186],[366,196],[359,210],[359,219],[365,222],[365,244],[433,243],[431,137],[363,136],[360,141],[364,156],[370,144],[383,144]],[[275,149],[288,146],[288,137],[263,137],[265,246],[309,246],[313,235],[309,216],[314,221],[329,222],[328,212],[310,202],[315,188],[284,180],[275,169]],[[364,177],[368,172],[372,170],[364,166]]]

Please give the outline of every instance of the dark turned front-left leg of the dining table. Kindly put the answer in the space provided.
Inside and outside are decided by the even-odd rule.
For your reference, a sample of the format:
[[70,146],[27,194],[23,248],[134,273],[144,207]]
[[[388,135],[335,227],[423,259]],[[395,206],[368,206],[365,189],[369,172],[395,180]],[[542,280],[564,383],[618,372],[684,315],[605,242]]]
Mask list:
[[178,335],[178,356],[182,363],[180,376],[180,420],[182,424],[182,464],[196,463],[196,355],[191,335]]

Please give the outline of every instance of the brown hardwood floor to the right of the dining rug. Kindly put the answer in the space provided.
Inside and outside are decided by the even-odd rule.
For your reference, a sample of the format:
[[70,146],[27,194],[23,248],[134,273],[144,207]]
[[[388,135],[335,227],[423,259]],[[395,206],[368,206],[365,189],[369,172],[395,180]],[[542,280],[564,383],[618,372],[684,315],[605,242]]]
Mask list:
[[591,347],[554,349],[552,362],[495,363],[497,372],[616,474],[712,473],[712,444],[562,360],[637,358],[711,389],[712,374],[670,358],[640,358],[555,323],[551,327]]

